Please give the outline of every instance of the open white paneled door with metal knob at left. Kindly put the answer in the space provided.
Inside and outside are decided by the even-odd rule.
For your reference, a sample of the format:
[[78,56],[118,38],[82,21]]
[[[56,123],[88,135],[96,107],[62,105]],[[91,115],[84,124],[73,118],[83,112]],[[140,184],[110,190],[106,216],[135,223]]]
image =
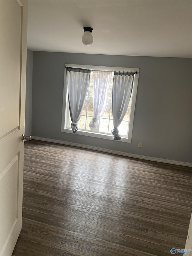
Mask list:
[[0,0],[0,255],[22,224],[28,0]]

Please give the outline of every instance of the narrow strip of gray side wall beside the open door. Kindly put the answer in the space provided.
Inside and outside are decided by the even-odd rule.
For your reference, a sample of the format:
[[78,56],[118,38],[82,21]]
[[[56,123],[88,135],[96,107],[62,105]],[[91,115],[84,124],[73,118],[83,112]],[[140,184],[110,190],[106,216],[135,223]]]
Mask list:
[[25,135],[32,134],[33,51],[27,49]]

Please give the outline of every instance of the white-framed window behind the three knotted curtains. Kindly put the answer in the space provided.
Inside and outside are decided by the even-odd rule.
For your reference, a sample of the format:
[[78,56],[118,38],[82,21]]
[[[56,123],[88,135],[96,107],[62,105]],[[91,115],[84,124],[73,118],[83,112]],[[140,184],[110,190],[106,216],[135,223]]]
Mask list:
[[[114,68],[114,67],[101,67],[101,66],[86,66],[86,65],[71,65],[66,64],[66,66],[70,66],[73,68],[85,68],[91,70],[107,70],[112,72],[111,84],[110,84],[110,96],[109,101],[107,104],[107,109],[104,115],[99,119],[99,125],[97,129],[91,130],[89,127],[90,121],[94,116],[93,114],[93,71],[90,74],[90,83],[88,87],[88,92],[86,95],[85,104],[83,107],[83,111],[81,114],[81,118],[78,122],[78,134],[87,135],[92,137],[101,137],[106,139],[112,139],[113,135],[111,130],[113,129],[113,116],[112,116],[112,89],[113,89],[113,72],[114,71],[137,71],[139,72],[138,68]],[[132,136],[132,128],[133,128],[133,118],[134,118],[134,109],[135,109],[135,101],[136,101],[136,94],[137,94],[137,83],[138,83],[138,75],[134,76],[134,84],[133,90],[131,94],[131,98],[129,101],[129,106],[125,117],[119,126],[119,134],[122,137],[121,141],[124,142],[131,142]],[[62,127],[61,131],[63,132],[70,132],[71,119],[69,114],[69,107],[68,107],[68,97],[67,97],[67,80],[66,80],[66,71],[64,76],[64,98],[63,98],[63,114],[62,114]]]

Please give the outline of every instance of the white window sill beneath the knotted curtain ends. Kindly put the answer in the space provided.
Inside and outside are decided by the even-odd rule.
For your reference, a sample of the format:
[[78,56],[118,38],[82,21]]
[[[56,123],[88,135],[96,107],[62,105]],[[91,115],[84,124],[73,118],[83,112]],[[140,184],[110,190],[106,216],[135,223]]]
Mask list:
[[[110,134],[93,133],[93,132],[82,131],[82,130],[78,130],[76,133],[73,133],[73,131],[71,129],[66,129],[66,128],[61,129],[61,132],[66,132],[66,133],[71,133],[71,134],[79,134],[79,135],[101,138],[101,139],[107,139],[107,140],[113,140],[113,135],[112,134],[110,135]],[[120,142],[131,143],[131,140],[129,138],[125,138],[125,137],[122,137],[122,139],[119,140],[119,141]]]

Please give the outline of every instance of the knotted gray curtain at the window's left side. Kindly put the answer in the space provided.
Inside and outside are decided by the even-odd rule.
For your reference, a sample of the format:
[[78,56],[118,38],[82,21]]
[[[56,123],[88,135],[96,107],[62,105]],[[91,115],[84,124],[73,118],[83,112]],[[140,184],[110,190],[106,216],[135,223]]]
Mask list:
[[69,111],[71,128],[77,132],[77,122],[81,117],[85,98],[89,86],[91,70],[67,67],[67,88],[69,98]]

